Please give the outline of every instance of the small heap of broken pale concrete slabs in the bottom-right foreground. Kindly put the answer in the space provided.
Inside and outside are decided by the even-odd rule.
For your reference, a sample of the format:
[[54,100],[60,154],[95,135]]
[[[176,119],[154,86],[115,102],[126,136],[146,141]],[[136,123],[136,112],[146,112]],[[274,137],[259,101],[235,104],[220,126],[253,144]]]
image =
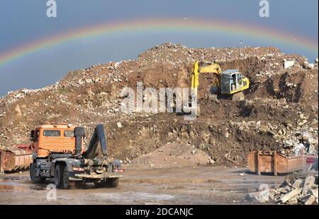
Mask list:
[[316,176],[291,175],[279,187],[250,193],[247,199],[259,203],[318,205],[318,172]]

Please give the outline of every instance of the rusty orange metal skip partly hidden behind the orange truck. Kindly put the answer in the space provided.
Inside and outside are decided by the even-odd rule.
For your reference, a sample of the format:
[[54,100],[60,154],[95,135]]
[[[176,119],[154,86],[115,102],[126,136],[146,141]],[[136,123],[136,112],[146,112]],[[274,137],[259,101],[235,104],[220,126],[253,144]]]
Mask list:
[[0,150],[0,172],[28,169],[33,162],[28,150]]

